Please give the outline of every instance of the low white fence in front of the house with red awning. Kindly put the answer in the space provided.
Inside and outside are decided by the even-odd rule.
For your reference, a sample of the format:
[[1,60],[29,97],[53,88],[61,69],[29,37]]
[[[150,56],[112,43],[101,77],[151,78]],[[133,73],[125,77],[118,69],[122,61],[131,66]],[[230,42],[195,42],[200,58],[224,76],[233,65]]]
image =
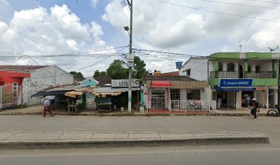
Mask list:
[[210,101],[170,100],[170,112],[176,111],[210,111]]

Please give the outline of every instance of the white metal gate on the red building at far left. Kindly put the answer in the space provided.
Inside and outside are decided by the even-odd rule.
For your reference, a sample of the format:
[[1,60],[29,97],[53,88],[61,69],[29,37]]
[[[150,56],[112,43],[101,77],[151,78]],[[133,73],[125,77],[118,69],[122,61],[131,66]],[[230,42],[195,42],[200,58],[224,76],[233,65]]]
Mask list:
[[0,86],[0,109],[20,104],[21,86],[17,83]]

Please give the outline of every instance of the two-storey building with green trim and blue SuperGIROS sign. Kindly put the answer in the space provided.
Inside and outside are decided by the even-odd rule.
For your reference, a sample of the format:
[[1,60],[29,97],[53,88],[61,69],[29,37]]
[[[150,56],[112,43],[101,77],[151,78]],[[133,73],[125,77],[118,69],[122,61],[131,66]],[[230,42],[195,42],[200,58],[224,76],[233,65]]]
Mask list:
[[215,53],[208,75],[213,107],[241,109],[246,97],[261,107],[278,103],[279,57],[274,53]]

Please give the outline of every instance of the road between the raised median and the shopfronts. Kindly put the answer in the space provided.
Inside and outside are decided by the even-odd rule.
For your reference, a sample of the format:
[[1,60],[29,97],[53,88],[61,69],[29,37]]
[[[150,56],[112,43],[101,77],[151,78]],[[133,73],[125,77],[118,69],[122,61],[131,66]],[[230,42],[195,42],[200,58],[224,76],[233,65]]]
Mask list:
[[260,116],[73,116],[0,115],[0,131],[91,131],[91,132],[207,132],[256,131],[280,144],[280,118]]

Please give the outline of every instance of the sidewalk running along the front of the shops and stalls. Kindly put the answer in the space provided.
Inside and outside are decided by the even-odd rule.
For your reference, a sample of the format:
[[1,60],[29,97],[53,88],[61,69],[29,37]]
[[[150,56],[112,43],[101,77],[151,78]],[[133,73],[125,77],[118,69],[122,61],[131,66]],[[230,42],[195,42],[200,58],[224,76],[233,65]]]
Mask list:
[[[38,104],[34,106],[27,107],[25,109],[11,109],[0,111],[0,115],[41,115],[43,111],[43,105]],[[268,109],[260,109],[259,115],[267,115]],[[84,110],[80,113],[74,113],[66,111],[65,109],[58,109],[53,111],[55,115],[101,115],[101,116],[121,116],[121,115],[251,115],[250,109],[243,107],[242,109],[213,109],[211,111],[206,112],[177,112],[170,113],[168,110],[149,110],[148,113],[139,113],[137,111],[132,111],[132,113],[128,113],[128,111],[111,111],[111,112],[97,112],[91,110]]]

